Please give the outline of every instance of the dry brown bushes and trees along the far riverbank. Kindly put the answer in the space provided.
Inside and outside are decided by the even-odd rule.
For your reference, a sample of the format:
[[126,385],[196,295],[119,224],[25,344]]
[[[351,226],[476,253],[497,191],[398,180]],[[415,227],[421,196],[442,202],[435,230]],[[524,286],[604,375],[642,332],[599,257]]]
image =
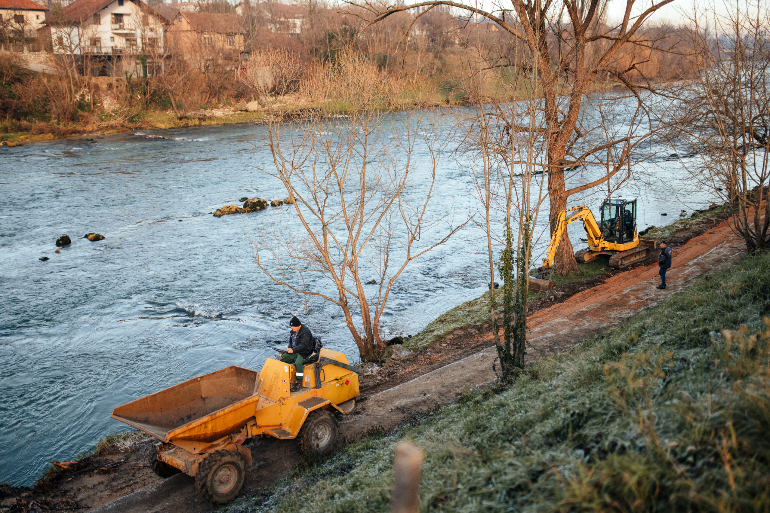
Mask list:
[[[173,16],[163,9],[157,10],[166,18]],[[469,62],[488,68],[490,84],[509,85],[511,65],[522,64],[521,58],[512,58],[510,33],[494,23],[470,21],[445,6],[419,15],[397,12],[373,25],[364,21],[362,8],[348,6],[343,12],[339,5],[317,0],[300,5],[246,2],[239,13],[228,2],[209,2],[203,9],[237,21],[243,36],[239,51],[212,51],[201,43],[192,51],[199,57],[196,61],[183,57],[190,52],[181,52],[178,42],[167,38],[162,49],[147,45],[144,54],[137,55],[140,71],[115,77],[91,76],[104,70],[100,71],[99,56],[88,52],[82,59],[67,55],[51,59],[55,72],[49,75],[28,72],[14,52],[3,52],[0,133],[66,135],[70,130],[142,125],[148,112],[201,118],[215,107],[244,111],[249,102],[259,104],[249,105],[252,110],[292,104],[344,111],[346,105],[338,98],[326,98],[319,105],[311,98],[317,95],[306,93],[316,75],[323,75],[346,52],[357,53],[387,75],[393,97],[386,108],[474,102],[479,98],[467,90],[461,72]],[[52,12],[58,15],[57,8]],[[5,48],[11,48],[12,33],[2,27],[0,32],[2,41],[8,42]],[[681,29],[649,27],[634,38],[639,44],[621,45],[614,57],[616,67],[630,68],[624,75],[628,81],[656,82],[694,71],[690,62],[675,55],[685,44]],[[478,52],[478,48],[486,49]],[[668,52],[672,48],[675,53]],[[255,74],[262,77],[256,90],[244,83],[244,79],[254,83]],[[609,74],[602,79],[609,80],[617,79]],[[564,82],[559,92],[570,87]],[[494,95],[496,90],[488,91]]]

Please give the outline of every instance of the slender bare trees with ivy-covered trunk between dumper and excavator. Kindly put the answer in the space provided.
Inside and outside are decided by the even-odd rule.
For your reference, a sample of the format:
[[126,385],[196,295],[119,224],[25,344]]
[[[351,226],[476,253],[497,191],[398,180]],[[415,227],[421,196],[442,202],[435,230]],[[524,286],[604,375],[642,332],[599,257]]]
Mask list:
[[[488,100],[488,89],[504,91],[504,75],[490,74],[486,56],[488,48],[474,42],[474,53],[468,52],[467,81],[476,105],[474,115],[464,120],[462,133],[470,142],[468,163],[476,178],[477,194],[484,208],[483,222],[477,224],[487,239],[490,267],[490,320],[502,378],[514,377],[524,367],[527,331],[527,294],[533,232],[545,201],[543,161],[546,139],[537,123],[543,123],[537,112],[541,98],[521,95],[514,89],[502,100]],[[514,83],[531,85],[526,75],[514,77]],[[523,90],[527,90],[524,88]],[[521,96],[521,98],[520,98]],[[506,101],[507,100],[507,101]],[[522,127],[527,126],[527,129]],[[499,259],[496,260],[497,248]],[[497,264],[497,265],[496,265]],[[495,267],[504,281],[501,301],[494,290]],[[503,339],[500,340],[497,305],[502,306]]]

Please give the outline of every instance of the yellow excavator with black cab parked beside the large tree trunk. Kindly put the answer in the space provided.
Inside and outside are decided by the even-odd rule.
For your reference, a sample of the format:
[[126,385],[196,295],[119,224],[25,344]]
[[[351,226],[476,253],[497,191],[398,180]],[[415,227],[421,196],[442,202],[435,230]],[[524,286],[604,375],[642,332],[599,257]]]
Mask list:
[[[567,217],[567,212],[574,214]],[[548,277],[554,265],[556,250],[567,225],[575,221],[583,222],[588,236],[588,248],[575,252],[578,262],[585,263],[599,258],[600,255],[609,255],[610,267],[621,269],[647,258],[650,249],[639,245],[639,236],[636,233],[636,198],[605,200],[601,204],[599,223],[587,206],[567,208],[567,211],[559,214],[556,230],[551,237],[551,244],[548,245],[547,258],[543,258],[542,267],[537,268],[537,276],[530,278],[531,290],[547,291],[553,288],[554,281]]]

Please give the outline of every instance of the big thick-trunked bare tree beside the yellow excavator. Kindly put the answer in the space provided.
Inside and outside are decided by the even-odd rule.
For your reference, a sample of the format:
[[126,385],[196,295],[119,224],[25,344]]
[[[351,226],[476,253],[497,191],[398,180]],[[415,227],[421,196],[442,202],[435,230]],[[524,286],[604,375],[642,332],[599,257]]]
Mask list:
[[[559,212],[567,207],[567,198],[611,178],[608,175],[567,188],[569,177],[565,177],[565,168],[579,166],[597,152],[606,151],[608,145],[618,144],[614,141],[586,144],[583,140],[584,130],[579,119],[584,98],[594,90],[598,81],[610,77],[623,82],[633,91],[637,89],[628,79],[628,74],[634,72],[640,62],[620,65],[618,54],[621,48],[628,45],[654,48],[654,41],[637,38],[636,35],[654,12],[671,2],[673,0],[653,2],[636,14],[634,8],[641,2],[626,0],[623,18],[616,25],[608,25],[605,20],[606,0],[511,0],[510,5],[496,2],[490,10],[478,7],[480,4],[449,0],[391,6],[368,0],[347,3],[351,14],[366,12],[370,24],[410,8],[427,8],[417,18],[439,6],[457,8],[469,13],[471,18],[497,24],[523,43],[524,51],[520,53],[520,58],[514,60],[510,54],[500,54],[494,65],[514,66],[537,77],[534,91],[544,98],[542,111],[538,114],[544,118],[544,124],[537,128],[528,128],[527,125],[516,128],[519,132],[533,129],[546,138],[543,168],[548,176],[549,218],[553,232]],[[615,173],[620,170],[618,168]],[[566,236],[561,239],[554,263],[560,274],[577,271],[572,245]]]

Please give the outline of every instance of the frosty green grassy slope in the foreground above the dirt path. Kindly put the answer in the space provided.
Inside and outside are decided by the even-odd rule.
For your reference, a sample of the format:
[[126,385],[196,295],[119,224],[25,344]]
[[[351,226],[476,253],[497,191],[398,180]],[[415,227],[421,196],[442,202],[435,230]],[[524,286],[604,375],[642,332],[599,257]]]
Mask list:
[[393,445],[410,438],[423,511],[768,511],[768,298],[770,255],[745,258],[510,388],[468,391],[227,509],[389,511]]

